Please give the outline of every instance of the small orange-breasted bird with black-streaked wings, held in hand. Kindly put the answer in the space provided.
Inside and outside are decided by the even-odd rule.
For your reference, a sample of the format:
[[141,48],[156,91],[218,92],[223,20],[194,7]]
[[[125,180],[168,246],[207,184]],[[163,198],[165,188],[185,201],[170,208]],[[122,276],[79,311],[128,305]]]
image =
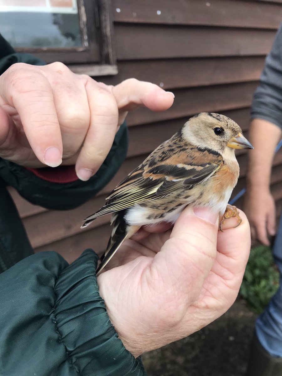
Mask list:
[[97,275],[124,240],[146,224],[175,223],[187,205],[212,208],[222,217],[237,217],[227,205],[239,177],[234,149],[253,149],[230,118],[201,112],[157,147],[109,194],[105,205],[85,219],[81,228],[112,214],[113,230]]

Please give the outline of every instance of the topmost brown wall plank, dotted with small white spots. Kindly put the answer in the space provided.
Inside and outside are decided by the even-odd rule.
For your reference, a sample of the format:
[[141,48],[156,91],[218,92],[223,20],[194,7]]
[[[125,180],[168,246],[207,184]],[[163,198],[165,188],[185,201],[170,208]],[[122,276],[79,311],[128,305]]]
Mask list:
[[112,7],[116,22],[262,29],[277,28],[282,12],[278,4],[236,0],[114,0]]

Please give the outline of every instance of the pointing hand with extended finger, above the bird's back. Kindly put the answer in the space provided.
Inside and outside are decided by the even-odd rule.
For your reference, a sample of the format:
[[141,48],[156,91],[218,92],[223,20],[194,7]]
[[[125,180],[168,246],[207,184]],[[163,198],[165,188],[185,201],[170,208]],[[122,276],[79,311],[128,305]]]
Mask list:
[[79,178],[88,180],[127,111],[164,111],[173,98],[135,79],[108,86],[59,62],[14,64],[0,76],[0,157],[33,168],[75,164]]

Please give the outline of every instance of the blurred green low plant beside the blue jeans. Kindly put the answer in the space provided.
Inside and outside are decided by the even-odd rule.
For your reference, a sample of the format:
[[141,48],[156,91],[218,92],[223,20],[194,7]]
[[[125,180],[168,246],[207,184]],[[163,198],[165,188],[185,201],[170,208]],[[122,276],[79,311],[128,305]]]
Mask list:
[[279,273],[274,265],[271,249],[258,246],[251,249],[243,282],[241,296],[250,308],[260,314],[267,306],[279,285]]

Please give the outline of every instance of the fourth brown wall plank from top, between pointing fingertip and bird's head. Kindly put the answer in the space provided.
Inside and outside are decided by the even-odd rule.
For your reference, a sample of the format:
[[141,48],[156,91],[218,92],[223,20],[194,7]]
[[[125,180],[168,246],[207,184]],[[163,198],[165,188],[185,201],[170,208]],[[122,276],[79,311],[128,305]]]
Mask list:
[[152,112],[140,108],[127,115],[127,124],[153,123],[180,117],[190,117],[198,112],[222,112],[249,107],[257,82],[234,83],[174,90],[175,99],[170,109]]

